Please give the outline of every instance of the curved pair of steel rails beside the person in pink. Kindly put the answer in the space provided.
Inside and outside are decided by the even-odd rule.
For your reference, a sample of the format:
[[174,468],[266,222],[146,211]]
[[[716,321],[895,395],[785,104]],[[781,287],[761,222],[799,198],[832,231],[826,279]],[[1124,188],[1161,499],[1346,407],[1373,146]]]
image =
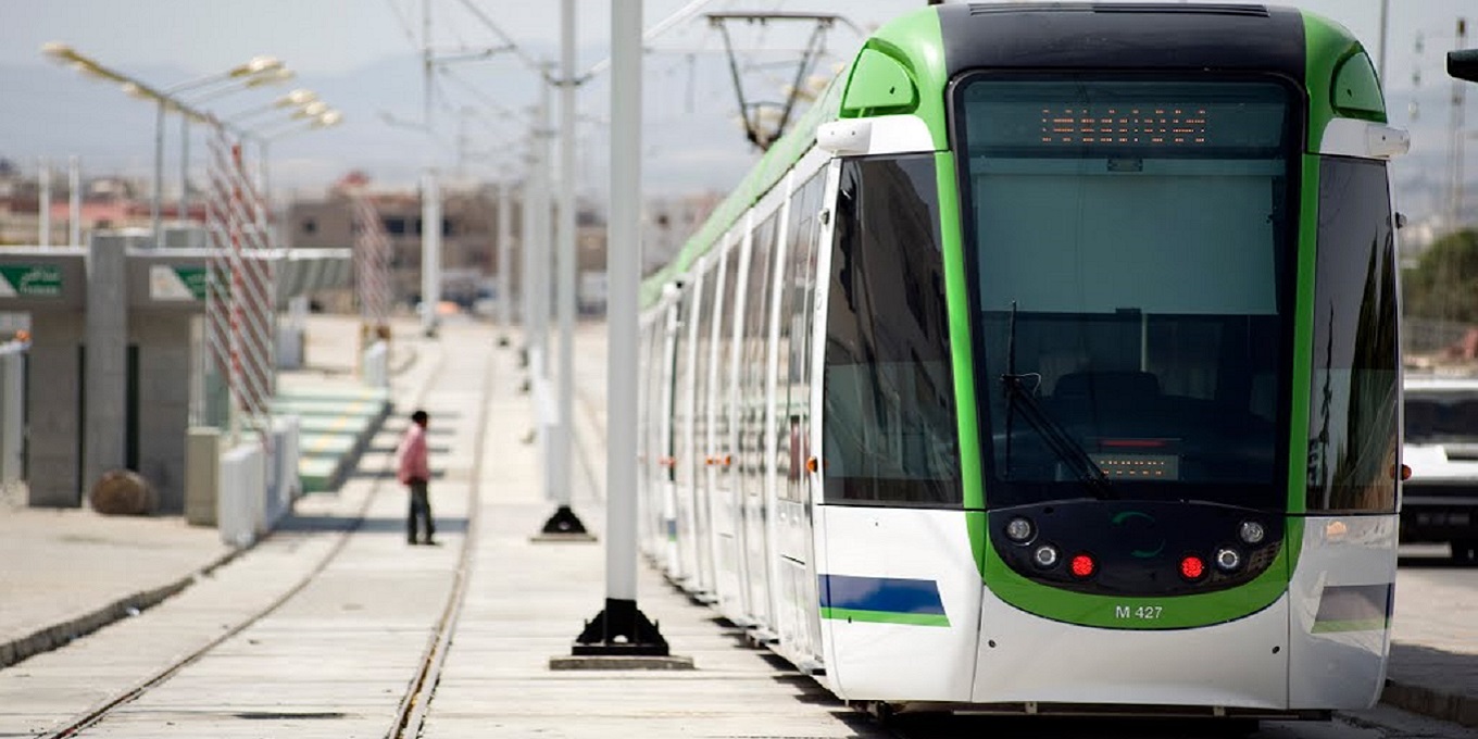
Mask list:
[[[491,358],[489,358],[491,359]],[[463,605],[466,602],[467,585],[470,581],[473,553],[477,539],[477,523],[479,523],[479,477],[483,463],[483,440],[486,436],[486,408],[492,392],[494,377],[497,372],[492,370],[492,361],[485,362],[488,371],[483,371],[483,383],[480,387],[480,396],[477,403],[477,418],[476,418],[476,433],[474,433],[474,451],[471,460],[469,491],[467,491],[467,529],[466,535],[461,538],[461,547],[457,553],[455,566],[451,575],[451,587],[448,590],[446,599],[436,616],[432,627],[432,633],[427,637],[426,647],[418,659],[412,674],[405,683],[403,693],[395,706],[395,712],[389,726],[386,726],[384,735],[387,739],[399,738],[414,738],[420,735],[421,726],[426,721],[427,711],[435,693],[437,680],[440,677],[442,665],[446,661],[446,655],[451,646],[452,636],[457,630],[458,616],[461,613]],[[446,371],[445,356],[437,364],[437,367],[430,372],[430,378],[418,390],[414,403],[420,405],[426,401],[426,395],[432,387],[436,387],[437,380]],[[257,607],[254,612],[245,618],[238,619],[231,624],[219,636],[211,638],[208,643],[189,650],[188,653],[176,658],[166,667],[157,670],[154,674],[139,680],[130,687],[115,693],[114,696],[93,705],[86,712],[67,720],[61,727],[53,727],[44,736],[53,739],[78,736],[92,727],[108,720],[111,715],[120,714],[127,706],[139,702],[145,696],[149,696],[160,687],[170,683],[183,670],[195,665],[208,656],[222,650],[223,646],[231,644],[235,640],[242,638],[242,634],[254,627],[269,619],[275,613],[284,610],[285,606],[291,605],[296,599],[302,597],[315,581],[318,581],[324,572],[338,562],[346,548],[355,539],[358,534],[365,528],[371,508],[384,495],[399,494],[399,483],[395,480],[395,460],[393,455],[387,455],[386,464],[375,470],[374,480],[371,483],[370,492],[365,500],[359,504],[353,519],[347,526],[337,534],[336,541],[322,556],[315,562],[310,569],[307,569],[290,588],[282,591],[279,596],[268,602],[266,605]],[[321,718],[321,712],[284,712],[284,714],[269,714],[269,712],[251,712],[253,717],[276,717],[276,718]],[[242,714],[247,715],[247,714]],[[338,712],[333,714],[340,715]]]

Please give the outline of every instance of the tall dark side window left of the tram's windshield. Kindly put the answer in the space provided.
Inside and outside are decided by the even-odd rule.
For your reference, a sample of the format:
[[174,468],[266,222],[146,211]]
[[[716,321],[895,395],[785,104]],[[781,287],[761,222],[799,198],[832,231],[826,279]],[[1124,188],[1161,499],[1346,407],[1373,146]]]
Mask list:
[[933,155],[847,160],[823,377],[828,503],[958,505]]

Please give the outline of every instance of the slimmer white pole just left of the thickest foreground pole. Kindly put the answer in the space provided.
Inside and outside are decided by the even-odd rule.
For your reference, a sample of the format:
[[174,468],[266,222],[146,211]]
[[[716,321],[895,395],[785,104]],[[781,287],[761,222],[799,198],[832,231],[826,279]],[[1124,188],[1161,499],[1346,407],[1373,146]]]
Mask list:
[[[563,0],[560,12],[560,133],[559,133],[559,424],[550,454],[571,457],[575,393],[575,0]],[[569,507],[572,464],[554,464],[554,501]]]

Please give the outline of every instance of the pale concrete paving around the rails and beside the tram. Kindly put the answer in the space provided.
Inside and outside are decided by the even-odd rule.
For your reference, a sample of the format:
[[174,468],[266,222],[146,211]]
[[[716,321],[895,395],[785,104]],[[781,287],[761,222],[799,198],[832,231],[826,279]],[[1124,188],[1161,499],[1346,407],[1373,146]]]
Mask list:
[[[334,331],[336,341],[344,338],[346,331],[334,330],[331,321],[319,325]],[[443,436],[433,437],[433,446],[440,448],[443,458],[467,455],[473,437],[467,429],[477,417],[467,403],[474,380],[467,377],[437,386],[432,377],[442,362],[474,346],[470,340],[492,340],[491,331],[469,328],[449,328],[439,340],[417,337],[414,331],[396,336],[405,337],[401,346],[414,349],[415,358],[409,361],[402,355],[392,381],[396,411],[367,449],[358,471],[338,494],[299,501],[284,529],[251,550],[238,554],[220,544],[214,529],[191,528],[177,517],[121,519],[87,510],[0,507],[0,724],[4,724],[0,735],[44,729],[49,721],[75,715],[117,686],[152,674],[157,665],[179,655],[182,644],[198,649],[217,638],[223,624],[282,597],[362,510],[368,511],[361,529],[365,535],[350,539],[353,551],[337,565],[333,576],[322,578],[312,593],[304,591],[284,609],[285,621],[269,619],[251,627],[242,633],[241,643],[223,650],[217,661],[191,668],[198,674],[180,672],[171,678],[171,690],[132,706],[133,724],[103,733],[158,736],[161,724],[143,717],[197,715],[208,704],[217,712],[220,705],[232,705],[229,715],[253,718],[257,735],[273,735],[269,724],[262,723],[278,715],[273,711],[309,715],[324,712],[325,705],[343,714],[337,718],[340,723],[318,721],[316,729],[273,726],[294,736],[375,735],[372,729],[383,706],[374,696],[393,696],[403,687],[403,675],[409,674],[406,665],[414,664],[426,643],[424,630],[406,625],[414,621],[409,616],[415,609],[439,607],[443,597],[445,590],[427,585],[426,576],[445,572],[455,562],[470,514],[466,497],[470,470],[448,470],[439,488],[443,495],[437,498],[437,517],[445,522],[445,545],[439,548],[406,550],[403,497],[377,498],[377,485],[384,480],[393,437],[403,429],[401,417],[418,398],[427,398],[442,418]],[[576,381],[597,393],[596,414],[578,414],[578,436],[594,446],[603,437],[605,424],[599,355],[605,341],[588,346],[593,349],[587,352],[587,344],[581,344],[582,359],[576,368],[582,377]],[[735,634],[711,613],[690,606],[646,568],[640,571],[643,610],[661,622],[674,652],[695,658],[701,670],[636,675],[548,671],[548,658],[566,655],[582,619],[593,618],[600,607],[605,547],[529,541],[551,505],[538,497],[538,466],[532,448],[522,439],[532,424],[532,409],[528,396],[514,389],[517,372],[511,355],[511,350],[501,350],[491,359],[498,365],[500,392],[486,408],[492,423],[483,442],[488,457],[480,476],[482,534],[474,554],[474,581],[424,736],[535,732],[544,736],[689,736],[695,721],[702,721],[709,736],[878,736],[872,724],[859,721],[808,680],[789,680],[794,674],[739,647]],[[340,361],[336,367],[324,359],[313,356],[310,344],[310,370],[304,377],[316,372],[322,381],[350,381],[347,364]],[[591,492],[603,486],[599,479],[587,477],[599,477],[603,464],[599,463],[600,449],[590,452],[597,464],[575,473],[582,495],[576,511],[600,534],[603,507]],[[365,578],[372,573],[401,585],[370,587]],[[168,597],[171,594],[176,597]],[[389,600],[381,597],[386,594]],[[148,618],[129,618],[149,606],[154,607]],[[1478,613],[1478,569],[1404,560],[1397,585],[1392,684],[1386,701],[1478,727],[1478,618],[1474,613]],[[121,624],[99,631],[98,638],[75,649],[43,653],[3,668],[13,661],[6,656],[13,656],[27,640],[61,644],[118,618]],[[350,646],[355,634],[365,633],[378,634],[375,658],[368,662],[356,659],[353,650],[358,647]],[[37,643],[25,647],[34,650]],[[273,667],[303,670],[302,655],[307,649],[324,650],[312,674],[287,674]],[[108,667],[102,671],[101,665]],[[236,695],[241,690],[228,695],[223,683],[225,674],[235,672],[254,675],[259,683],[260,675],[275,674],[282,684],[263,684],[260,696],[247,696],[254,704],[239,706],[232,701],[244,699]],[[114,675],[111,681],[108,675]],[[637,683],[643,689],[631,690]],[[214,686],[214,692],[207,699],[186,689],[197,684],[204,686],[200,690]],[[579,706],[578,720],[571,705]],[[754,726],[757,712],[766,715],[763,732]],[[1385,714],[1377,709],[1375,715]],[[495,717],[492,724],[489,717]],[[365,723],[352,724],[352,720]],[[177,733],[186,736],[189,729],[180,724]]]

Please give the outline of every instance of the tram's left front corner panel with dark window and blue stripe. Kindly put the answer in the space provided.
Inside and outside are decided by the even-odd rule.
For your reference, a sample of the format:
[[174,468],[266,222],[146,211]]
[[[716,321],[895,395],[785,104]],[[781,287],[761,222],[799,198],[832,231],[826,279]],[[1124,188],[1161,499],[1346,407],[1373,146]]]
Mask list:
[[826,678],[844,698],[956,701],[975,667],[980,573],[962,510],[934,157],[841,160],[820,247],[811,477]]

